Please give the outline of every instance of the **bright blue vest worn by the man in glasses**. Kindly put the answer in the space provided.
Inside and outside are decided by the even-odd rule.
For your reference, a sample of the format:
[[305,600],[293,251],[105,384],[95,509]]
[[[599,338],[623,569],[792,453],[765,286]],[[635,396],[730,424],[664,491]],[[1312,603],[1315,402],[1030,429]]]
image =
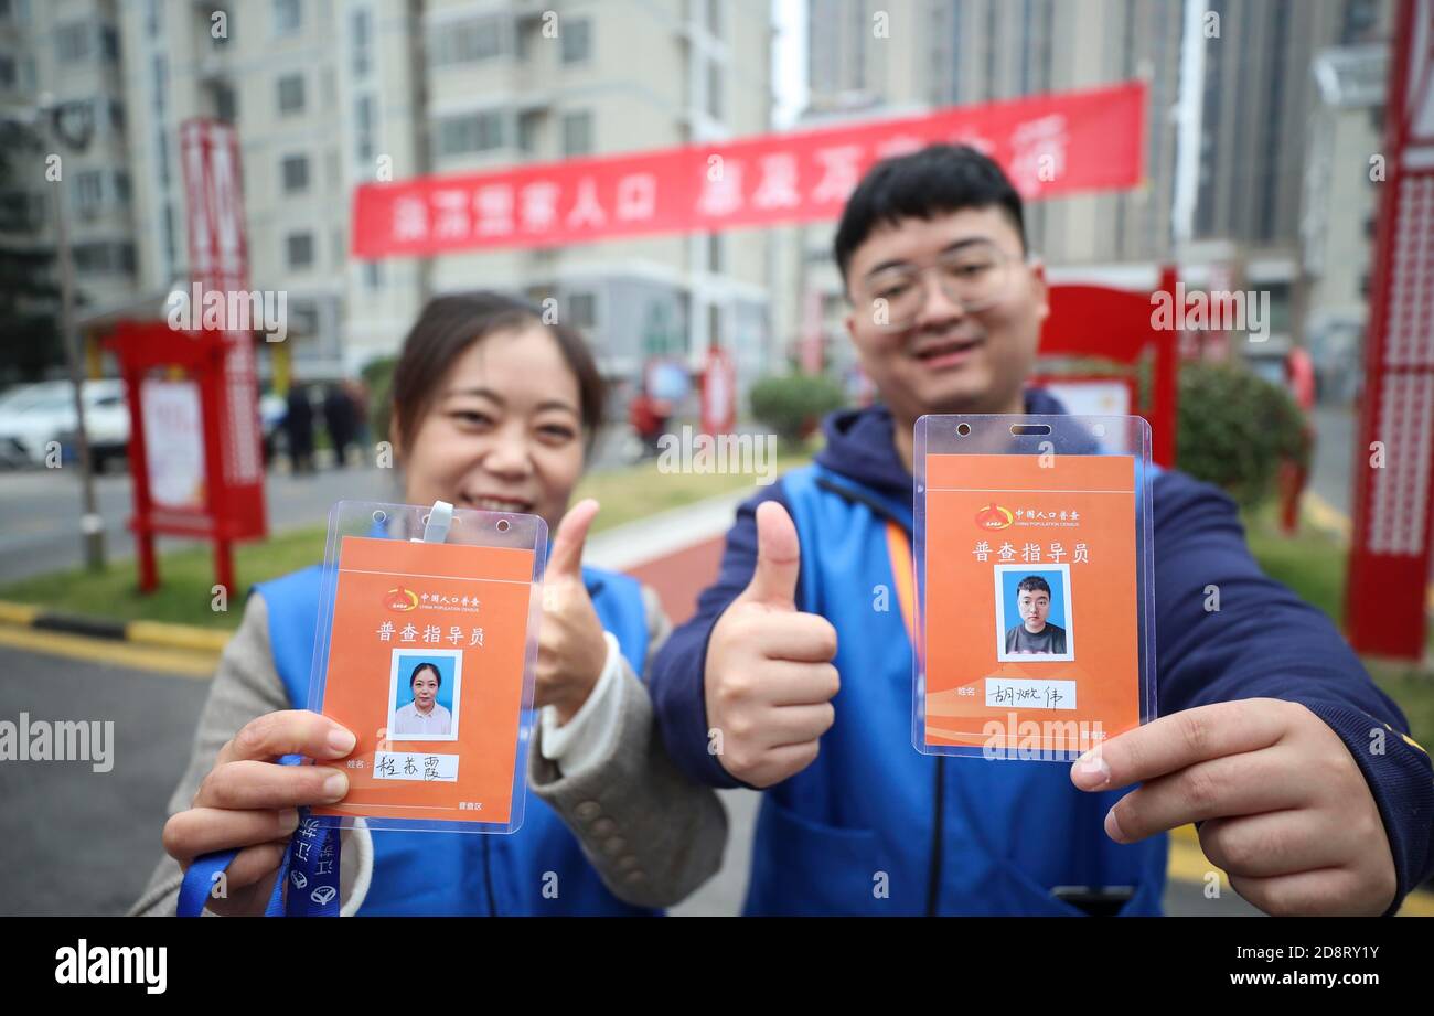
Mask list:
[[[820,465],[782,481],[803,548],[797,607],[840,633],[836,723],[816,761],[763,795],[749,914],[1081,914],[1057,885],[1133,885],[1121,914],[1159,914],[1167,839],[1113,842],[1126,791],[1086,794],[1070,766],[922,755],[911,743],[912,644],[896,603],[896,502]],[[895,597],[892,597],[895,598]],[[883,897],[885,894],[885,897]]]

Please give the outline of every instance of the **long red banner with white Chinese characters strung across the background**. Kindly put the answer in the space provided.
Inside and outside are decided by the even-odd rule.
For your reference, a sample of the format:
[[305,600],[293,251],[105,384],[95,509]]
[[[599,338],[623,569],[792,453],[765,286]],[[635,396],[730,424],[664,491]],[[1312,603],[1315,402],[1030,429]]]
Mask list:
[[1123,189],[1141,181],[1144,119],[1146,86],[1131,82],[714,145],[364,184],[354,192],[353,253],[373,260],[830,220],[873,162],[935,142],[979,148],[1025,198]]

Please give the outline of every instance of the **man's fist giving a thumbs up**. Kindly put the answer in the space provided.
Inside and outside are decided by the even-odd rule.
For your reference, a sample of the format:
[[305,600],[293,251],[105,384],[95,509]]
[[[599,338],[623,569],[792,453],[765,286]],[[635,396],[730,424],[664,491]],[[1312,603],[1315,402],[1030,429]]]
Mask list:
[[704,674],[718,761],[753,786],[770,786],[816,759],[840,680],[836,629],[796,607],[802,547],[786,509],[757,505],[757,567],[713,627]]

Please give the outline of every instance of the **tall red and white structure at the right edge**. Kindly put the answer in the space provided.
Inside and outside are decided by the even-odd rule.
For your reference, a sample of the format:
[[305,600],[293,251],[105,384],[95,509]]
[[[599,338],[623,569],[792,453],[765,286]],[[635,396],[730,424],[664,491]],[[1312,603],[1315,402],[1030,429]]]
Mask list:
[[1434,0],[1402,0],[1397,16],[1345,629],[1361,652],[1420,659],[1434,468]]

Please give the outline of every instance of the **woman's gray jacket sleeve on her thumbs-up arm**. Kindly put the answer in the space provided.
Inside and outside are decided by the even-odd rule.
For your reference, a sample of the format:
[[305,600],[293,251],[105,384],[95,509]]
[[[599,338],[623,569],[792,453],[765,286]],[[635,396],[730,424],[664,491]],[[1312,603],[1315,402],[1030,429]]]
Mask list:
[[[671,633],[652,590],[644,587],[648,657]],[[717,795],[684,776],[657,733],[647,687],[622,660],[617,736],[582,772],[562,773],[543,758],[542,728],[528,755],[528,782],[568,824],[614,895],[640,907],[670,907],[721,867],[727,812]]]

